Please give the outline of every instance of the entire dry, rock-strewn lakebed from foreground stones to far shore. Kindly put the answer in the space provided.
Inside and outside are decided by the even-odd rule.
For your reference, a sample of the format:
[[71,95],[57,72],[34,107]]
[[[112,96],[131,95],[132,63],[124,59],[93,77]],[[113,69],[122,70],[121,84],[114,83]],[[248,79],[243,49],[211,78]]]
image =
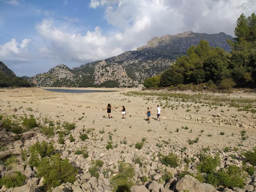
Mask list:
[[[129,189],[132,192],[256,190],[256,166],[246,162],[245,156],[245,152],[253,151],[256,144],[255,93],[170,97],[164,95],[170,93],[166,90],[157,91],[158,95],[154,91],[138,89],[116,90],[79,94],[47,92],[38,88],[0,90],[0,114],[3,116],[0,121],[1,177],[14,171],[21,171],[26,176],[26,185],[10,189],[3,185],[0,191],[43,191],[44,178],[37,176],[37,168],[29,165],[30,154],[25,158],[22,156],[22,151],[42,141],[52,142],[62,159],[68,159],[78,169],[75,182],[48,189],[54,192],[128,191],[115,189],[111,183],[112,178],[120,174],[120,161],[134,169],[134,175],[129,178],[134,183]],[[114,108],[112,120],[106,118],[107,103]],[[162,108],[161,121],[154,119],[157,104]],[[125,121],[120,112],[123,105],[127,109]],[[152,110],[150,122],[145,120],[147,107]],[[20,134],[3,128],[4,119],[21,122],[21,117],[30,115],[36,119],[35,128]],[[58,132],[65,130],[64,121],[74,122],[75,128],[64,135],[64,142],[60,144]],[[54,134],[47,135],[42,131],[43,126],[52,127]],[[88,139],[82,141],[81,134],[86,134]],[[69,139],[70,135],[74,141]],[[107,149],[110,143],[112,149]],[[78,150],[83,153],[78,154]],[[177,157],[178,164],[168,165],[163,161],[170,153]],[[199,176],[207,178],[208,173],[199,172],[200,154],[219,155],[220,161],[214,171],[232,165],[240,168],[243,189],[204,183],[206,180]],[[9,166],[6,162],[12,156],[16,156],[16,161]],[[103,162],[96,177],[89,173],[95,160]],[[253,171],[248,171],[251,167]]]

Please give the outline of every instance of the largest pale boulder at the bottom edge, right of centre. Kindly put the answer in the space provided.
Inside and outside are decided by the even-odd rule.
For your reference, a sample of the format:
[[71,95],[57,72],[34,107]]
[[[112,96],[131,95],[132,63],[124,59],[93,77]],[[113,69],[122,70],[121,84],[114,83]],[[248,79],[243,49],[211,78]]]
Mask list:
[[182,192],[189,190],[189,192],[214,192],[215,188],[208,183],[200,183],[197,179],[190,175],[185,175],[176,183],[176,190]]

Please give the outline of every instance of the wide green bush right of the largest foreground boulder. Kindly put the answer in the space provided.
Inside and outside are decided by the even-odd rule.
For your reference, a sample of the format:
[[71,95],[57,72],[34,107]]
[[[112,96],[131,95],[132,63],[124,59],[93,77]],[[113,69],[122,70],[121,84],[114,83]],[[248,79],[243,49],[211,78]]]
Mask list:
[[242,171],[235,165],[231,165],[228,168],[217,171],[216,173],[210,173],[206,176],[206,183],[213,186],[239,187],[244,188],[244,176]]

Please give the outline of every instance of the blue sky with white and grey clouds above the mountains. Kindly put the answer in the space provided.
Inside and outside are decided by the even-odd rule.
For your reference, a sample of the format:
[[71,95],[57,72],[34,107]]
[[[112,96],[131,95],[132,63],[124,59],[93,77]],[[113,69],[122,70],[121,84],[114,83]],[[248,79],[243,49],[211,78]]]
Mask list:
[[0,0],[0,61],[17,76],[76,67],[185,31],[234,36],[256,0]]

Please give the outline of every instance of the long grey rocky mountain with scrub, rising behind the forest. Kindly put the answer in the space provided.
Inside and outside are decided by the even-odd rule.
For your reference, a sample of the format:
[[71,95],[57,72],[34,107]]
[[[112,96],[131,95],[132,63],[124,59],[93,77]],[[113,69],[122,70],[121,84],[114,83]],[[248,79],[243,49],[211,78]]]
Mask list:
[[95,61],[69,69],[65,65],[56,66],[48,73],[29,78],[36,86],[139,86],[147,77],[161,74],[175,59],[184,55],[187,48],[207,40],[213,47],[230,51],[227,39],[232,36],[225,33],[206,34],[187,31],[177,35],[165,35],[152,38],[147,45],[137,50]]

